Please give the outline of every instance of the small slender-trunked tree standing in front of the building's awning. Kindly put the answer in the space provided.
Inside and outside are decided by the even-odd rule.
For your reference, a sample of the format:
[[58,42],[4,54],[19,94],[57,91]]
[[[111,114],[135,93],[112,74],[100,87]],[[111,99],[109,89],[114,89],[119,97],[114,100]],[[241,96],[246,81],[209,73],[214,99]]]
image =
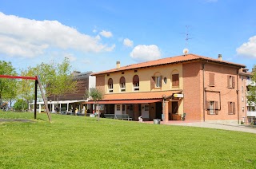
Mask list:
[[[94,100],[94,104],[96,104],[96,107],[97,107],[98,101],[102,100],[104,97],[104,92],[102,91],[101,88],[90,88],[90,91],[86,90],[85,96],[86,98],[91,97],[91,99]],[[99,116],[100,116],[100,112],[98,112],[98,121],[99,121]]]

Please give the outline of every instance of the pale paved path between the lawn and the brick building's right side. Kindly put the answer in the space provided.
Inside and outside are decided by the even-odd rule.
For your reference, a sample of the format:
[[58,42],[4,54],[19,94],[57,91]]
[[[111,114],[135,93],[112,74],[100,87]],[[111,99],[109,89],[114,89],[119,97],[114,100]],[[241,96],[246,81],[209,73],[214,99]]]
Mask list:
[[238,124],[214,124],[210,122],[188,122],[188,123],[168,123],[168,125],[191,126],[199,128],[217,128],[222,130],[231,130],[237,132],[250,132],[256,134],[256,128]]

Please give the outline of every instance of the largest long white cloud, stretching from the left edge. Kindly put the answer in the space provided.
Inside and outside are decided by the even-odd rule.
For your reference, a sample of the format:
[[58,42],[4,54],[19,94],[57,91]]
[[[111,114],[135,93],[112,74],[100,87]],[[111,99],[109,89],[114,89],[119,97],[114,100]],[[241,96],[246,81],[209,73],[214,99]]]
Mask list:
[[58,21],[36,21],[0,12],[0,53],[9,56],[35,57],[49,48],[102,52],[112,47]]

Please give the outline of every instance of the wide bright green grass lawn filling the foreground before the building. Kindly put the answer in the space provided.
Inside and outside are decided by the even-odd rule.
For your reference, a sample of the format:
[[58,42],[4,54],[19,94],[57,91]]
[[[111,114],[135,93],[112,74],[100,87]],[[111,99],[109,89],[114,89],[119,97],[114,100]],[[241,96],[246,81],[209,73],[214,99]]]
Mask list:
[[[0,168],[255,168],[256,135],[38,114],[0,122]],[[33,113],[0,112],[0,119]]]

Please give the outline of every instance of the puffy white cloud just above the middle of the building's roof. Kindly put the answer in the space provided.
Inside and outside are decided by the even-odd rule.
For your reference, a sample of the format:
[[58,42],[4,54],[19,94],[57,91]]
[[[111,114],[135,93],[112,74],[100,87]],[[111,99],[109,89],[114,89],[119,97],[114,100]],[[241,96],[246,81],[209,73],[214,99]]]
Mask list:
[[152,61],[161,57],[157,45],[137,45],[130,53],[130,57],[137,61]]

